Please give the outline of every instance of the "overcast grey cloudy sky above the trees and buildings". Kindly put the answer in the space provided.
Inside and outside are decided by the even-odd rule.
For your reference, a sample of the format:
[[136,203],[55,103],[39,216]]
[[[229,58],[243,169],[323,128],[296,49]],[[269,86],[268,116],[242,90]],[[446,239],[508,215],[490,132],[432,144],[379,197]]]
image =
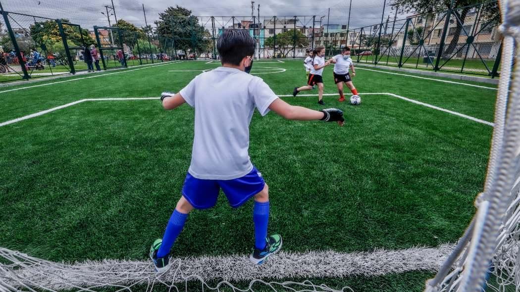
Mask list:
[[[393,20],[395,10],[385,7],[385,16],[390,16]],[[4,9],[12,12],[37,15],[49,18],[68,18],[73,23],[81,24],[85,28],[92,29],[93,25],[108,25],[106,8],[111,6],[110,0],[0,0]],[[245,0],[114,0],[115,12],[118,19],[124,19],[137,26],[144,26],[145,19],[142,11],[142,3],[145,4],[146,17],[148,24],[153,24],[159,18],[159,12],[168,6],[180,5],[192,10],[196,16],[219,16],[216,18],[216,26],[231,25],[230,18],[222,16],[245,16],[245,20],[251,18],[251,1]],[[365,25],[372,25],[381,21],[384,0],[353,0],[352,12],[350,13],[350,28],[359,28]],[[328,8],[330,7],[330,24],[347,24],[350,0],[255,0],[254,15],[257,16],[258,4],[260,5],[261,19],[268,19],[269,16],[289,16],[298,17],[301,23],[298,25],[312,25],[311,17],[316,15],[318,20],[321,16],[323,24],[327,24]],[[11,23],[13,26],[25,26],[34,22],[31,17],[16,16],[17,20]],[[404,16],[398,15],[398,19]],[[37,19],[36,19],[37,20]],[[113,23],[114,16],[111,16]],[[13,22],[13,21],[11,21]],[[202,18],[202,24],[211,28],[210,18]],[[227,24],[226,24],[227,23]],[[318,25],[318,24],[317,24]]]

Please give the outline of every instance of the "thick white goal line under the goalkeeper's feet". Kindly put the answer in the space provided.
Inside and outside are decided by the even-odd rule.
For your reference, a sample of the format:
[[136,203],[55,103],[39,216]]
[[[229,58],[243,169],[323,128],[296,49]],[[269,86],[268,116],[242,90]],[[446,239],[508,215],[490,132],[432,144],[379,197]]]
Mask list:
[[[362,253],[339,253],[337,251],[307,251],[293,253],[280,251],[272,255],[262,266],[249,261],[249,255],[202,256],[174,258],[173,266],[163,274],[155,273],[151,261],[128,261],[105,259],[75,264],[40,262],[36,268],[12,269],[15,276],[51,289],[96,283],[100,286],[121,285],[152,278],[159,281],[179,283],[186,278],[194,280],[250,281],[263,278],[287,279],[309,277],[378,276],[408,271],[436,272],[453,250],[454,245],[445,244],[435,248],[415,247],[401,250],[375,250]],[[0,248],[2,253],[13,251]],[[25,258],[26,255],[18,254]],[[155,278],[155,277],[158,278]],[[9,278],[9,277],[7,277]],[[152,280],[149,279],[149,280]],[[9,281],[9,280],[7,280]],[[27,282],[26,282],[27,283]],[[14,283],[13,283],[14,284]]]

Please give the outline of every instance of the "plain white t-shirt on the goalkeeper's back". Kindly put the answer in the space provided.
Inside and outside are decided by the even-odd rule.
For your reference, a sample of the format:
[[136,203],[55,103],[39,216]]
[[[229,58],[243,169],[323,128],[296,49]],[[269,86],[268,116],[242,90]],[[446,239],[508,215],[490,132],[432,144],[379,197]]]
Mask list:
[[234,68],[205,72],[180,95],[195,108],[195,135],[188,172],[199,179],[229,180],[253,169],[249,123],[254,109],[262,116],[278,96],[259,77]]

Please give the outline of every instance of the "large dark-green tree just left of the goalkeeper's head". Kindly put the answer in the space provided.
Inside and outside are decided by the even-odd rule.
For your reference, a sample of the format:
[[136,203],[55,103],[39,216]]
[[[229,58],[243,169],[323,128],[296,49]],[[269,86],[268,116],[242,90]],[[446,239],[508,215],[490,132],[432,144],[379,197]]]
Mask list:
[[[192,52],[207,51],[211,40],[206,38],[209,32],[199,24],[199,19],[191,15],[191,10],[177,5],[168,7],[159,14],[159,20],[154,21],[157,29],[155,33],[162,37],[173,38],[175,48],[188,54]],[[207,33],[206,33],[207,32]]]

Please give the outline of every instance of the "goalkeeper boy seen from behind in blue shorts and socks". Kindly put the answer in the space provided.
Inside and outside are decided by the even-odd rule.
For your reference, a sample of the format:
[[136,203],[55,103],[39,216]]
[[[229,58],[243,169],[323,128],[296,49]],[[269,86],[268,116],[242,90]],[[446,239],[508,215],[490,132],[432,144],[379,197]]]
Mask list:
[[249,124],[255,109],[262,116],[274,111],[288,120],[321,120],[340,126],[345,121],[338,109],[314,111],[290,105],[278,98],[261,78],[248,74],[255,51],[255,40],[249,31],[225,30],[218,38],[217,50],[222,67],[196,76],[177,94],[164,92],[161,96],[166,110],[189,104],[194,108],[195,123],[191,164],[182,196],[162,240],[156,240],[150,248],[150,258],[158,272],[172,266],[170,252],[188,214],[193,209],[215,206],[220,189],[233,208],[254,199],[251,262],[262,264],[282,247],[280,235],[267,235],[269,189],[249,156]]

